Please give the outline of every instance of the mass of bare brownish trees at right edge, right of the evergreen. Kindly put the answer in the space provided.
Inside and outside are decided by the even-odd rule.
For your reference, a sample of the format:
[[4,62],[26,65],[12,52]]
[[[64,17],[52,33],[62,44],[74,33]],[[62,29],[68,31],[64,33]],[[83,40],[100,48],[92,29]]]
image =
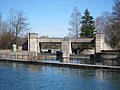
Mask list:
[[115,0],[112,14],[105,12],[97,17],[96,29],[107,34],[107,40],[113,48],[120,48],[120,0]]

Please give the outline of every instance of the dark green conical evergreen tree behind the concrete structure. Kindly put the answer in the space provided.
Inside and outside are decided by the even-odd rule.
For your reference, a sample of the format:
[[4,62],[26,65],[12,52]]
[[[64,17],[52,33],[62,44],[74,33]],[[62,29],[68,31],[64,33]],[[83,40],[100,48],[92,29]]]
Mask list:
[[85,10],[84,15],[82,16],[82,27],[80,37],[82,38],[94,38],[94,20],[93,16],[90,16],[88,9]]

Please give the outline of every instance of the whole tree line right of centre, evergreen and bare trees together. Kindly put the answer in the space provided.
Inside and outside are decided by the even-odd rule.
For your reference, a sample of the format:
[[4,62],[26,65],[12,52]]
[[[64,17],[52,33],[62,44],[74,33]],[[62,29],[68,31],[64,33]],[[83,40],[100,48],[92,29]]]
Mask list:
[[96,19],[88,9],[81,16],[77,7],[70,17],[69,36],[71,38],[94,38],[95,33],[104,33],[106,43],[112,48],[120,48],[120,0],[114,0],[112,12],[103,12]]

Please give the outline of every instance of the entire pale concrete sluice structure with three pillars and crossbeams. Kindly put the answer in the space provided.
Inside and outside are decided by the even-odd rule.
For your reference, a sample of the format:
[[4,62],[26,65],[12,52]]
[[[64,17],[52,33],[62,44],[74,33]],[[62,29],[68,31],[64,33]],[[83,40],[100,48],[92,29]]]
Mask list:
[[[28,34],[28,50],[40,53],[41,46],[40,43],[61,43],[61,50],[63,52],[63,57],[69,57],[72,54],[71,43],[90,43],[94,38],[38,38],[38,34],[29,33]],[[105,43],[104,34],[96,34],[96,53],[101,52],[101,50],[111,50],[112,48]]]

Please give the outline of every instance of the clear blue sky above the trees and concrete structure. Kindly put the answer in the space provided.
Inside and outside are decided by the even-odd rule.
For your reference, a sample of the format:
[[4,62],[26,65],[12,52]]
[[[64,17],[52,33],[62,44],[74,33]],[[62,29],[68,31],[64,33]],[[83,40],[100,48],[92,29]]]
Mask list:
[[24,10],[31,31],[40,36],[64,37],[69,31],[69,20],[74,7],[81,14],[86,8],[96,18],[104,11],[112,11],[113,0],[0,0],[0,12],[7,18],[10,9]]

